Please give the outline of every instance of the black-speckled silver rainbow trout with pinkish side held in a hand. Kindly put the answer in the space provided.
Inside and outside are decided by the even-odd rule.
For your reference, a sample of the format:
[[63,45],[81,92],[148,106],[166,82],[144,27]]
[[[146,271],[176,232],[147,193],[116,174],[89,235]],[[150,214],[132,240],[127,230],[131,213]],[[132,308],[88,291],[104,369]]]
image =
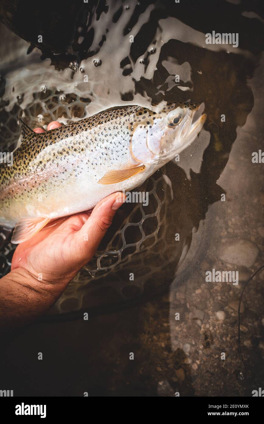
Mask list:
[[50,220],[93,208],[107,195],[132,190],[196,138],[194,103],[109,109],[34,133],[22,120],[13,165],[0,165],[0,223],[12,243],[30,239]]

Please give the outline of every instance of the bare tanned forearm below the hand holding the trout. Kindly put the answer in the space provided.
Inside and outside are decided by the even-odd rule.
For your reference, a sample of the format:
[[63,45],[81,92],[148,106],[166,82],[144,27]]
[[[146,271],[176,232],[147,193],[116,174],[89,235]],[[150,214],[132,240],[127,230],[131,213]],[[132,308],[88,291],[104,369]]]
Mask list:
[[46,312],[67,283],[39,282],[22,268],[0,279],[0,330],[23,326]]

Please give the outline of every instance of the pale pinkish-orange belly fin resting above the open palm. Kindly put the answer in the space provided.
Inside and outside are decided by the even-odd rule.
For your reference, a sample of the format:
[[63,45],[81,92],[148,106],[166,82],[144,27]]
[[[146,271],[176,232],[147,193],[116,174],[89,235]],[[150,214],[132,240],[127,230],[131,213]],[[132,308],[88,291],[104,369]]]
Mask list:
[[49,221],[50,218],[25,218],[20,220],[14,228],[11,243],[19,244],[29,240],[47,225]]

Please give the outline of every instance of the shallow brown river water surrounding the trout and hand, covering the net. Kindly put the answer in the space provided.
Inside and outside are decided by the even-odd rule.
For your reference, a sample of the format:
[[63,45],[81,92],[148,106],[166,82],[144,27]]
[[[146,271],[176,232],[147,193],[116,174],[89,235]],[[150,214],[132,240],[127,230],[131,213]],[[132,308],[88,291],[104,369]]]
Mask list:
[[[19,142],[19,116],[46,128],[113,106],[192,100],[207,120],[180,161],[140,188],[149,205],[122,206],[53,309],[7,336],[3,379],[35,396],[251,396],[264,384],[264,271],[242,301],[246,370],[237,312],[264,264],[263,164],[252,162],[264,129],[258,2],[89,2],[63,18],[44,28],[42,51],[0,26],[3,151]],[[238,46],[207,44],[212,31],[238,34]],[[4,274],[14,245],[10,232],[0,237]],[[206,281],[213,269],[238,271],[238,284]],[[29,359],[39,346],[41,371]]]

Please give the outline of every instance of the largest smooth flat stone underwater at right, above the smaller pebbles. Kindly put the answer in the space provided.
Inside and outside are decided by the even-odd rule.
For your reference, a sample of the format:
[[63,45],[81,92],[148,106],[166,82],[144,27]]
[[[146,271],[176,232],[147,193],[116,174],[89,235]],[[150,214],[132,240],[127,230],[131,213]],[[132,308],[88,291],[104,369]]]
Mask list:
[[234,239],[227,242],[220,249],[219,258],[233,265],[243,265],[251,268],[256,262],[258,248],[248,240]]

